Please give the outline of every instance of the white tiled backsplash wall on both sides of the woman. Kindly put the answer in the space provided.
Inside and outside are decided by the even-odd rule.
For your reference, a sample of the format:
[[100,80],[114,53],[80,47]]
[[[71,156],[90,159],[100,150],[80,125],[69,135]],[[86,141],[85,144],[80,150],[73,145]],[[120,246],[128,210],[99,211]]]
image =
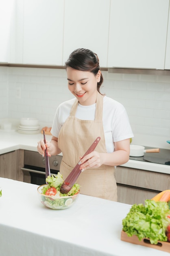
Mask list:
[[[102,92],[128,112],[133,144],[170,149],[170,76],[102,74]],[[51,126],[57,106],[71,98],[64,69],[0,67],[0,119],[37,117]]]

